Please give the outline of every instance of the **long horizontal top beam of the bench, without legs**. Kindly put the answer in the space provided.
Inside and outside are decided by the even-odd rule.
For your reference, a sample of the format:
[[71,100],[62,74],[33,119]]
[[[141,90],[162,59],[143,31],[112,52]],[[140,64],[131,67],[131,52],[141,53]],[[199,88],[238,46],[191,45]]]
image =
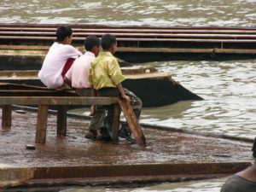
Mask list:
[[0,96],[0,105],[110,105],[116,97],[100,96]]

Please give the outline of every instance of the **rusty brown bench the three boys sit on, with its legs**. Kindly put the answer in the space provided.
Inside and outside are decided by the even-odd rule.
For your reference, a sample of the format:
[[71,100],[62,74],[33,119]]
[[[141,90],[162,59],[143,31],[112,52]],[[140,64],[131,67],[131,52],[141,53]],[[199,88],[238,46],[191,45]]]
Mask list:
[[47,119],[49,106],[58,106],[57,109],[57,134],[67,133],[67,107],[68,106],[88,106],[88,105],[114,105],[113,114],[113,142],[119,140],[119,115],[122,111],[125,119],[131,128],[134,137],[140,147],[146,147],[146,139],[141,126],[133,113],[129,102],[117,97],[85,97],[85,96],[0,96],[0,106],[2,106],[2,128],[11,128],[12,105],[36,105],[38,106],[38,119],[35,143],[45,143]]

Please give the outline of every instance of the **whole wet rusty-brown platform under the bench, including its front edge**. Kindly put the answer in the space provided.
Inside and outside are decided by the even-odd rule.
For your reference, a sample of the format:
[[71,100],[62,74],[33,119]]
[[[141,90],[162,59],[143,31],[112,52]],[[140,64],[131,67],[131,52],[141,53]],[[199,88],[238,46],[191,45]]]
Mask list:
[[[24,112],[24,113],[23,113]],[[151,183],[223,177],[250,165],[251,142],[204,137],[144,126],[145,150],[84,138],[88,120],[67,119],[56,135],[49,114],[45,144],[34,144],[37,113],[14,111],[11,130],[0,130],[0,187]],[[26,144],[35,149],[26,149]]]

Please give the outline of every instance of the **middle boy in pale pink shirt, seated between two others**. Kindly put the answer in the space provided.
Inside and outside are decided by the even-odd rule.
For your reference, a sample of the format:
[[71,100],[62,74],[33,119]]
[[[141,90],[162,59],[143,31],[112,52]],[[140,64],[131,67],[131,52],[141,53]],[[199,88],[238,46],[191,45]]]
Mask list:
[[[96,36],[89,36],[84,40],[85,54],[80,56],[73,62],[73,66],[67,71],[64,81],[68,85],[76,89],[79,96],[96,96],[96,90],[91,88],[89,78],[90,63],[95,60],[100,52],[101,41]],[[96,139],[97,131],[102,126],[102,121],[105,118],[105,109],[97,109],[92,106],[91,115],[94,115],[90,121],[89,129],[94,131],[94,134],[86,133],[85,137]]]

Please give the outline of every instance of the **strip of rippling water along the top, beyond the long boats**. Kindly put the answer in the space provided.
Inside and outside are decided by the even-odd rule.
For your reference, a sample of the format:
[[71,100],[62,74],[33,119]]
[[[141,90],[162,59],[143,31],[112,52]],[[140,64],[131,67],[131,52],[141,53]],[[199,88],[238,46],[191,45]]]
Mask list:
[[253,26],[253,0],[9,0],[1,22],[167,26]]

